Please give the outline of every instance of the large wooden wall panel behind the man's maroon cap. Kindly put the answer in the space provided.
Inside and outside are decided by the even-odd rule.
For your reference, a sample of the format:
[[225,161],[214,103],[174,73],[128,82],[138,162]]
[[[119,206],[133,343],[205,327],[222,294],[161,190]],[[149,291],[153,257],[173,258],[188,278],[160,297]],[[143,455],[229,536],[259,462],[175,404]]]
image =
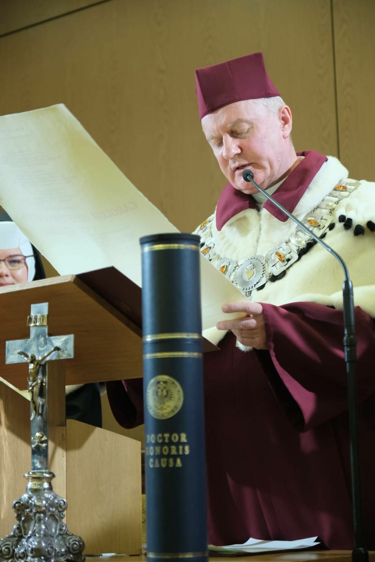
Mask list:
[[112,0],[0,39],[0,114],[64,102],[181,230],[225,184],[194,69],[261,50],[296,149],[337,153],[329,0]]

